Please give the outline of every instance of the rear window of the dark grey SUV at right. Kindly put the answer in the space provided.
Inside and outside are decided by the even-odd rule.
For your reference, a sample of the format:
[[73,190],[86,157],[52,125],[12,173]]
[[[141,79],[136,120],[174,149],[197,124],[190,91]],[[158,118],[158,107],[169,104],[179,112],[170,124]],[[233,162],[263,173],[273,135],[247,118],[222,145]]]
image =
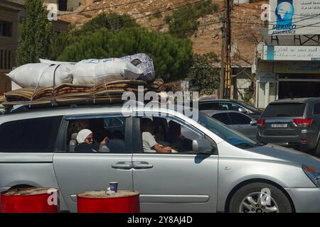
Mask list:
[[269,104],[262,117],[277,117],[277,116],[303,116],[304,107],[306,104],[289,103],[289,104]]

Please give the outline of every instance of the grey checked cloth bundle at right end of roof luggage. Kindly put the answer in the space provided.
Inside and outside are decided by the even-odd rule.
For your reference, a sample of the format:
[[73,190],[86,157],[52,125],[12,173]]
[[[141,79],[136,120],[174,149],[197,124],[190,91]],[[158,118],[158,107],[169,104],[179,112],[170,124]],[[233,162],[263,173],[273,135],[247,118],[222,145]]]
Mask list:
[[135,55],[121,57],[121,59],[131,62],[137,68],[142,70],[143,74],[137,79],[142,79],[145,82],[151,82],[155,79],[156,72],[154,71],[154,63],[149,55],[146,55],[145,53],[138,53]]

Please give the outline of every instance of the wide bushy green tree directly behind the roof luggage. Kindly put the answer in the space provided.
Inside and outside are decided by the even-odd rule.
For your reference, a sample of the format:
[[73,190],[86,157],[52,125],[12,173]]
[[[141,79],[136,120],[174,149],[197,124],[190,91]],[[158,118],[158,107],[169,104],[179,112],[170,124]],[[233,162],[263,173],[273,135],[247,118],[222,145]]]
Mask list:
[[190,40],[145,28],[122,28],[118,31],[102,28],[83,35],[66,47],[58,60],[122,57],[137,52],[144,52],[153,58],[157,77],[166,82],[186,77],[193,61]]

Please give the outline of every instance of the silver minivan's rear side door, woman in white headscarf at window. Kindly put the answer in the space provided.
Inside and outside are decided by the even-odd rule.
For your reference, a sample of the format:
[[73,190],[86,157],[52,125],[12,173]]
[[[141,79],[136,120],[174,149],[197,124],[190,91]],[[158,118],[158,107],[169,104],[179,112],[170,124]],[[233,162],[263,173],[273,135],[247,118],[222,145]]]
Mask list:
[[[122,118],[123,141],[112,138],[112,128],[105,128],[106,134],[111,136],[107,142],[107,152],[88,150],[85,153],[77,153],[68,149],[72,134],[90,125],[86,124],[87,121],[101,119],[102,127],[107,127],[104,123],[106,119],[119,117],[117,114],[95,114],[63,118],[65,127],[60,131],[60,148],[53,156],[53,166],[60,192],[70,211],[77,211],[76,196],[80,192],[107,189],[109,182],[119,182],[119,189],[133,189],[132,117]],[[93,134],[95,135],[94,131]]]

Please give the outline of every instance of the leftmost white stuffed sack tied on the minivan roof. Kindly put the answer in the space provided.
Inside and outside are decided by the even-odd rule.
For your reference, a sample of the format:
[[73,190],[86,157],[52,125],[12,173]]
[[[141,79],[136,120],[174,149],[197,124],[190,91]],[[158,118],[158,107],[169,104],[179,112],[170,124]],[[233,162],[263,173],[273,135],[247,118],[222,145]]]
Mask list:
[[[55,68],[57,70],[55,70]],[[45,63],[31,63],[21,65],[6,74],[12,81],[21,87],[50,87],[53,86],[55,71],[55,85],[73,82],[73,65],[49,65]]]

